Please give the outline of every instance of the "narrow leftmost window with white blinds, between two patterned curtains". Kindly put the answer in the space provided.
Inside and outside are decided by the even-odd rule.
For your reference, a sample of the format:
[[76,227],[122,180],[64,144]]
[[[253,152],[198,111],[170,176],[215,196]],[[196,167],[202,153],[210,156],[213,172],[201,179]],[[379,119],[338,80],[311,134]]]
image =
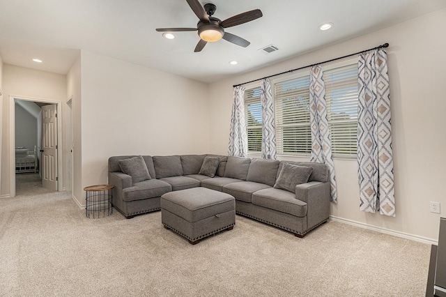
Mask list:
[[245,90],[245,119],[248,151],[262,151],[262,105],[260,86]]

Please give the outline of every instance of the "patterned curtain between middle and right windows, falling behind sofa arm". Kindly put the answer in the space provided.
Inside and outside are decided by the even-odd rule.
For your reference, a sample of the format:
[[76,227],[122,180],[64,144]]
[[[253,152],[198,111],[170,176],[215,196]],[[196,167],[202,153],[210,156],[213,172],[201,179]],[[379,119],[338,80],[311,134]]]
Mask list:
[[324,163],[328,166],[330,200],[337,203],[332,144],[328,129],[327,106],[325,105],[325,85],[320,66],[314,66],[310,70],[309,114],[312,129],[312,158],[310,161]]

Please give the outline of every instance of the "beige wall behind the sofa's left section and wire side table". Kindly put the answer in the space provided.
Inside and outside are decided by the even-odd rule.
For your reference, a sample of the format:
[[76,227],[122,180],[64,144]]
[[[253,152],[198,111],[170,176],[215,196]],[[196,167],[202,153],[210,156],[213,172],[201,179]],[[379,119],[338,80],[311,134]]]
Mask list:
[[208,152],[207,84],[85,51],[80,68],[82,181],[73,188],[78,204],[84,204],[78,194],[84,187],[107,182],[112,155]]

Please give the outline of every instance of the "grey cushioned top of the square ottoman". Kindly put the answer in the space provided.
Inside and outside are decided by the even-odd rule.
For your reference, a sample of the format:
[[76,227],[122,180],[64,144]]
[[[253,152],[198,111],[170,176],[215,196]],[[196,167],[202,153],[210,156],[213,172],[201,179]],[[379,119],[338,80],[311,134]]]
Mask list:
[[162,195],[161,208],[187,222],[198,222],[236,208],[234,197],[207,188],[192,188]]

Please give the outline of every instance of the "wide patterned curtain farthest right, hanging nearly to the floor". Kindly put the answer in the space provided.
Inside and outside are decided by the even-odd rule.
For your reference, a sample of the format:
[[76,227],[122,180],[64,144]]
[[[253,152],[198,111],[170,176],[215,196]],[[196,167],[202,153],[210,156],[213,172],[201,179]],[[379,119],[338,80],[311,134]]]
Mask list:
[[358,86],[360,210],[395,216],[389,75],[384,50],[360,55]]

